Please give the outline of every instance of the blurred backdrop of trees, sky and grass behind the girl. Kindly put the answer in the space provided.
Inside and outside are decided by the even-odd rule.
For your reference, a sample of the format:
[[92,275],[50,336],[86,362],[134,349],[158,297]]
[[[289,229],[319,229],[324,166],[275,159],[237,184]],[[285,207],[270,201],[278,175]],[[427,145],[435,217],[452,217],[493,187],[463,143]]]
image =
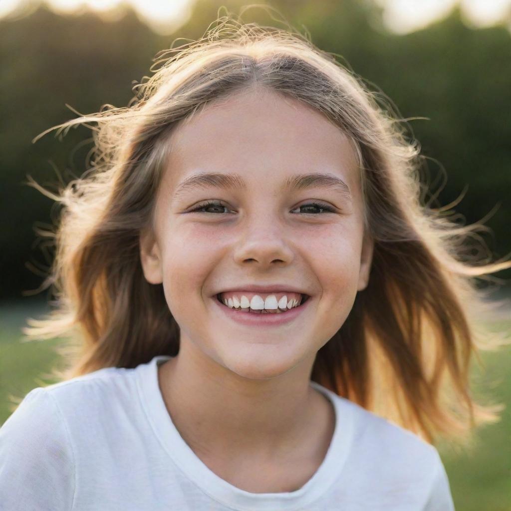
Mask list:
[[[264,3],[262,3],[264,4]],[[53,258],[37,236],[58,218],[53,201],[25,184],[32,176],[56,191],[85,170],[91,133],[60,140],[43,130],[126,106],[155,54],[177,38],[197,39],[225,6],[211,0],[0,0],[0,424],[12,396],[51,383],[59,339],[22,342],[27,316],[48,310],[40,287]],[[272,0],[291,25],[390,98],[409,136],[428,158],[439,204],[460,199],[457,221],[483,221],[487,261],[511,251],[511,0]],[[222,14],[222,13],[221,13]],[[243,21],[283,28],[263,9]],[[178,46],[187,42],[176,41]],[[69,106],[66,106],[69,105]],[[57,183],[57,184],[55,184]],[[52,188],[53,187],[53,188]],[[493,254],[493,255],[492,255]],[[495,284],[511,278],[495,274]],[[494,298],[510,296],[503,285]],[[511,310],[488,329],[511,332]],[[474,393],[505,403],[502,421],[480,431],[469,454],[439,451],[457,511],[511,510],[511,349],[483,354],[473,368]]]

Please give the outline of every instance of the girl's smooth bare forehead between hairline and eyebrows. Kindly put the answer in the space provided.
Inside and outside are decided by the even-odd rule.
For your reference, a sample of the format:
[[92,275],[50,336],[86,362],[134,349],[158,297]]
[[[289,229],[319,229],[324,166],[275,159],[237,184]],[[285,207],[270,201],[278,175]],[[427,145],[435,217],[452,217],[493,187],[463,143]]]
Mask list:
[[323,172],[359,193],[359,169],[349,138],[313,107],[267,90],[242,91],[206,105],[170,137],[167,187],[200,172],[242,174],[249,183],[280,182]]

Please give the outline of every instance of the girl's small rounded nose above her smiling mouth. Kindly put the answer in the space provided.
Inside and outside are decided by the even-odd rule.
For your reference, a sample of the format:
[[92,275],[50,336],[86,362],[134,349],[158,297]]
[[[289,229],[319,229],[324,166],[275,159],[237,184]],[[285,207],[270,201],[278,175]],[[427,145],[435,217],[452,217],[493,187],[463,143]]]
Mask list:
[[293,250],[286,227],[271,212],[246,219],[235,241],[234,258],[238,264],[289,264],[293,260]]

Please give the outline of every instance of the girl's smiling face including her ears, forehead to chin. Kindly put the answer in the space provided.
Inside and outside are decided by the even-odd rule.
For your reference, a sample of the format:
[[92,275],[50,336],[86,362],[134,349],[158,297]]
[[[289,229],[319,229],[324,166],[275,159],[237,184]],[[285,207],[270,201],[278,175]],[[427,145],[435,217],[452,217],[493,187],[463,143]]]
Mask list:
[[[312,107],[260,90],[207,105],[169,143],[141,260],[147,281],[163,284],[180,353],[186,343],[203,367],[219,364],[244,378],[309,373],[367,285],[373,253],[346,136]],[[182,186],[206,173],[230,176],[231,186],[218,178]],[[316,178],[292,186],[308,174]],[[217,294],[252,285],[292,287],[310,298],[289,321],[245,324],[233,314],[277,316],[230,311]]]

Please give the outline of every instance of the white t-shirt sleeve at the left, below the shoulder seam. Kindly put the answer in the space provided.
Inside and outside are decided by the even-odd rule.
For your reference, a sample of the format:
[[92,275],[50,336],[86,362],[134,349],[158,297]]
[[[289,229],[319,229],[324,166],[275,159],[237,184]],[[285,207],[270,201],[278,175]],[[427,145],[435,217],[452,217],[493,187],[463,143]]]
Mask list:
[[0,428],[2,511],[70,511],[75,461],[64,417],[51,393],[31,390]]

